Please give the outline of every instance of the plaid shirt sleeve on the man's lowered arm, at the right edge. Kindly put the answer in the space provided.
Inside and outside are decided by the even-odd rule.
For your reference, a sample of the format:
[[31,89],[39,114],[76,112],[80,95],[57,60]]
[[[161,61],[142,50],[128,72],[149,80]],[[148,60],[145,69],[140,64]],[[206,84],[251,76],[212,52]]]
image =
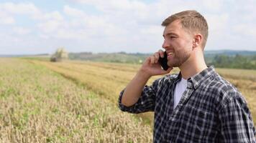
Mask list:
[[241,94],[227,99],[219,113],[223,142],[256,142],[250,110]]

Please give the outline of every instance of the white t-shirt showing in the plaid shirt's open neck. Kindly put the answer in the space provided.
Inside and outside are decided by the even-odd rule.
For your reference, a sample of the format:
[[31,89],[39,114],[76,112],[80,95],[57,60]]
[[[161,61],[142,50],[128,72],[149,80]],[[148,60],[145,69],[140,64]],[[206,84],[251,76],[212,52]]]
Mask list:
[[175,92],[174,92],[174,108],[177,106],[178,102],[180,102],[180,98],[183,93],[187,89],[188,82],[186,79],[181,78],[180,82],[176,84]]

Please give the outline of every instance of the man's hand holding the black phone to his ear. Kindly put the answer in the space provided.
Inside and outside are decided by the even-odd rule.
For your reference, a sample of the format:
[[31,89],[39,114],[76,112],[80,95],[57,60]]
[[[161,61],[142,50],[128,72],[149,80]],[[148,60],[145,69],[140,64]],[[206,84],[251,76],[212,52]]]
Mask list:
[[155,54],[153,54],[152,56],[147,57],[147,59],[142,64],[139,72],[146,74],[147,77],[168,74],[173,69],[173,67],[169,67],[169,69],[165,71],[161,68],[160,63],[158,62],[160,56],[162,58],[164,57],[164,53],[165,51],[159,50],[155,52]]

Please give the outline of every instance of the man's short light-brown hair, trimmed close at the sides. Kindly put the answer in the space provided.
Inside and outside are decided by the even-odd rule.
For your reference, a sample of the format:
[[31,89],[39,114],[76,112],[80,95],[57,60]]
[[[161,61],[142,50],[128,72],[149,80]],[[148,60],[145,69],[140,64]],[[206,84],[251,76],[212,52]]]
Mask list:
[[198,11],[194,10],[181,11],[165,19],[162,26],[168,26],[175,20],[180,20],[180,24],[184,29],[187,29],[190,32],[199,32],[202,34],[202,47],[204,49],[208,37],[208,24],[206,19],[204,19],[204,16],[202,16]]

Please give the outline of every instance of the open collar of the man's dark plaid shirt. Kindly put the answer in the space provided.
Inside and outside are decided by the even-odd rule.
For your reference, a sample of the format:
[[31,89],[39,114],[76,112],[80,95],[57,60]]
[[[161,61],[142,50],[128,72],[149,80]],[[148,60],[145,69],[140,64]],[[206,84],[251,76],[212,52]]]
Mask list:
[[[208,66],[207,69],[199,72],[198,74],[193,75],[193,77],[188,78],[188,82],[191,81],[193,84],[194,89],[197,89],[202,82],[208,79],[212,74],[215,73],[214,66]],[[181,72],[178,74],[178,78],[175,81],[178,82],[181,79]]]

